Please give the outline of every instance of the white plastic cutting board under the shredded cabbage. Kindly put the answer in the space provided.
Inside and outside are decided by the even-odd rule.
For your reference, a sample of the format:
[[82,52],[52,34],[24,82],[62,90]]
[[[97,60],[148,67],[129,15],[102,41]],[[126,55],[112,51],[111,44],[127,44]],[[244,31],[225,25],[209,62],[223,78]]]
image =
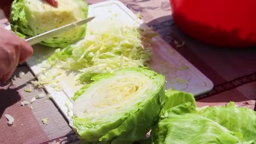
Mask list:
[[[88,17],[96,16],[96,18],[88,23],[87,32],[108,29],[113,25],[115,25],[115,27],[124,27],[135,23],[138,26],[143,24],[143,21],[138,20],[137,16],[132,11],[117,0],[109,0],[89,5],[88,12]],[[112,22],[104,23],[104,21],[109,19],[112,19]],[[197,96],[208,92],[213,88],[211,80],[184,59],[184,57],[182,57],[170,45],[165,43],[163,39],[156,37],[154,41],[154,53],[150,61],[150,68],[165,75],[167,80],[166,89],[174,88],[176,90],[193,93]],[[27,64],[35,75],[40,73],[40,67],[38,64],[44,61],[43,57],[52,51],[52,48],[45,48],[42,45],[34,46],[34,56],[27,61]],[[37,59],[41,59],[42,61],[37,62]],[[65,104],[72,107],[72,101],[70,98],[73,96],[75,91],[81,87],[81,85],[75,86],[76,77],[77,76],[72,73],[69,75],[63,73],[63,75],[59,77],[59,80],[61,80],[60,85],[63,87],[62,91],[54,91],[50,86],[45,86],[46,91],[51,94],[53,101],[55,101],[67,119],[70,118],[69,115],[72,115],[72,112],[68,115],[68,109]]]

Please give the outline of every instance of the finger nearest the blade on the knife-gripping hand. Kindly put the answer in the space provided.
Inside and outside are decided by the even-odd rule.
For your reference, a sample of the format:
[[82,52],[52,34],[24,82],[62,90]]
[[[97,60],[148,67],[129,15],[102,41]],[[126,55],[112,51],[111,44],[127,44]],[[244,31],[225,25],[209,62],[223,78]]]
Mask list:
[[23,63],[24,61],[27,61],[27,59],[33,55],[34,51],[31,45],[29,45],[25,40],[20,40],[20,57],[19,57],[19,63]]

